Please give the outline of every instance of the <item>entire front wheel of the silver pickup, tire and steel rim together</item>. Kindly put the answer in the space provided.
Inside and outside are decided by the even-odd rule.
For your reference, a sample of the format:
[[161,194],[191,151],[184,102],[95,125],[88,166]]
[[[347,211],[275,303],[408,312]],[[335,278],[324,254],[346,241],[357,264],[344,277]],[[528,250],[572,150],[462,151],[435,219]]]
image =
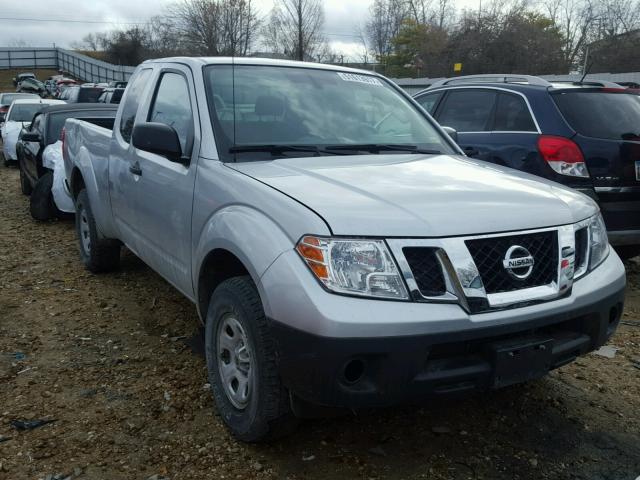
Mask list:
[[206,319],[209,383],[225,425],[238,439],[279,438],[297,424],[276,367],[275,342],[250,277],[213,292]]

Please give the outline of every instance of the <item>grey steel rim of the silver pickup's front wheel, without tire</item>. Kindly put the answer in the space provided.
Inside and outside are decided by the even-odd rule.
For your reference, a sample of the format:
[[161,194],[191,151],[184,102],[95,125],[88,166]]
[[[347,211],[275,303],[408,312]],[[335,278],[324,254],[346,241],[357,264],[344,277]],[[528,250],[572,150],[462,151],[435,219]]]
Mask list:
[[216,342],[224,393],[235,408],[244,410],[253,390],[253,355],[244,327],[233,314],[222,318]]

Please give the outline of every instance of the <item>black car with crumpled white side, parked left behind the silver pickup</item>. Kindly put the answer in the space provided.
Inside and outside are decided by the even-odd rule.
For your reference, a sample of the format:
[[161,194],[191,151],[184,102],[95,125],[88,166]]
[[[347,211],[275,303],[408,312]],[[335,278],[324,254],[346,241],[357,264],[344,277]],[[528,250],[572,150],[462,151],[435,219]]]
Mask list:
[[22,193],[31,195],[31,215],[47,220],[58,212],[51,194],[53,171],[42,163],[47,145],[60,140],[64,122],[68,118],[113,128],[117,105],[75,103],[52,105],[38,112],[29,127],[23,128],[16,145]]

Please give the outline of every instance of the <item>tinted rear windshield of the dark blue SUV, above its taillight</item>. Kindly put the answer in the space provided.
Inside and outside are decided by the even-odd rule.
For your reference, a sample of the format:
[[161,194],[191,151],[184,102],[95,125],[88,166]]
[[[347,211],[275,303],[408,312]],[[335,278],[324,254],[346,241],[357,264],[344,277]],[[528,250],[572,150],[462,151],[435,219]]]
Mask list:
[[553,99],[571,128],[610,140],[640,139],[640,97],[629,93],[570,91]]

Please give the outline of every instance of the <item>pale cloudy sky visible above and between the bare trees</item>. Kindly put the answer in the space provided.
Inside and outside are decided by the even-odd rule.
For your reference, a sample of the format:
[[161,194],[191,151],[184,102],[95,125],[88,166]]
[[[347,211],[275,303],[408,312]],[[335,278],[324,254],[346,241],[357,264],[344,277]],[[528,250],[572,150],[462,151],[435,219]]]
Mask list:
[[[266,16],[273,0],[254,0]],[[337,53],[358,57],[364,52],[359,33],[367,20],[373,0],[323,0],[324,33]],[[5,0],[0,8],[0,47],[45,47],[55,44],[68,48],[92,32],[127,28],[129,22],[144,23],[163,13],[170,0]],[[475,0],[457,0],[458,8]],[[58,20],[58,21],[56,21]]]

